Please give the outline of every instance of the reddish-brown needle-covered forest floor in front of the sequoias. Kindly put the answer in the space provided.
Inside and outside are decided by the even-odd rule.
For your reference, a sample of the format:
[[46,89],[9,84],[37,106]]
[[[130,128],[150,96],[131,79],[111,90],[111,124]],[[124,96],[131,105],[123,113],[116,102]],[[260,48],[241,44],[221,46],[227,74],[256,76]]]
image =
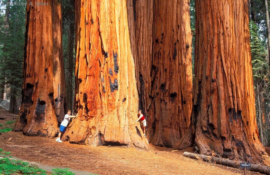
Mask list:
[[[16,119],[15,114],[0,110],[0,124]],[[9,122],[10,123],[10,122]],[[0,128],[1,129],[1,128]],[[10,139],[12,138],[12,139]],[[18,148],[16,145],[31,147]],[[28,137],[22,132],[5,132],[0,135],[0,148],[12,156],[26,161],[68,167],[97,174],[244,174],[243,170],[207,163],[183,156],[184,151],[195,152],[192,148],[173,151],[173,148],[156,147],[150,144],[151,152],[145,153],[134,148],[58,143],[54,139]],[[172,152],[173,151],[173,152]],[[267,148],[270,155],[270,148]],[[270,157],[265,163],[270,165]],[[248,171],[247,174],[260,174]]]

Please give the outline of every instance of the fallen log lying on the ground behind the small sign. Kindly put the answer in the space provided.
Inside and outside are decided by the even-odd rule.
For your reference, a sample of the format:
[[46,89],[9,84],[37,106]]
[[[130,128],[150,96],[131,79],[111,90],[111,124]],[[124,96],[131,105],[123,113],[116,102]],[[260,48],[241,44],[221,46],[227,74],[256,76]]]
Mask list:
[[[216,164],[221,164],[221,165],[225,165],[225,166],[228,166],[228,167],[234,167],[234,168],[239,168],[240,167],[240,162],[236,162],[236,161],[233,161],[233,160],[230,160],[230,159],[212,157],[210,155],[201,155],[201,154],[184,152],[184,156],[194,158],[194,159],[197,159],[197,160],[214,162]],[[244,162],[241,162],[241,163],[244,163]],[[251,163],[251,167],[248,168],[248,170],[263,173],[263,174],[270,174],[270,167],[262,166],[262,165],[258,165],[258,164],[252,164]]]

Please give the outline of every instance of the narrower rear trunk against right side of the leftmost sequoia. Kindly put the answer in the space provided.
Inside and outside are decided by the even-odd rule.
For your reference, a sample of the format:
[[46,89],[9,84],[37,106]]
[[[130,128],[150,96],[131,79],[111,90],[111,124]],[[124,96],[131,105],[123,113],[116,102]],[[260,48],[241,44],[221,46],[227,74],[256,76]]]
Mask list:
[[[55,114],[58,123],[61,123],[67,113],[66,109],[66,82],[62,50],[62,12],[59,0],[48,1],[52,4],[53,29],[53,97],[55,99]],[[51,27],[51,26],[49,26]],[[72,50],[73,51],[73,50]]]

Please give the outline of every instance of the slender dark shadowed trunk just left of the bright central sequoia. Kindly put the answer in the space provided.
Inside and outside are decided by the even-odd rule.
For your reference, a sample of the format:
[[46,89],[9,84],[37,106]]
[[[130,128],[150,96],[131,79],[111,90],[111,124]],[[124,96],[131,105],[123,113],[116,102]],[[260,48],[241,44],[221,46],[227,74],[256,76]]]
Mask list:
[[[74,2],[73,0],[70,1],[70,6],[74,7]],[[69,110],[73,109],[73,68],[74,68],[74,57],[73,57],[73,50],[74,50],[74,27],[75,27],[75,23],[74,23],[74,10],[69,9],[68,12],[68,48],[67,48],[67,73],[66,73],[66,77],[67,77],[67,106]]]

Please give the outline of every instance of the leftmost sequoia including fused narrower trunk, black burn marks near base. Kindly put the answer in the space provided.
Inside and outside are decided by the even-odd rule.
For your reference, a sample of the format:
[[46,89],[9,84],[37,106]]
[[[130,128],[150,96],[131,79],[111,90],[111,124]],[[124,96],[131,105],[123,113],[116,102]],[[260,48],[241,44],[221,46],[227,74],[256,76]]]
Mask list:
[[[28,4],[30,1],[27,1]],[[35,4],[36,1],[31,1]],[[27,5],[22,105],[14,130],[54,137],[64,114],[61,4]]]

